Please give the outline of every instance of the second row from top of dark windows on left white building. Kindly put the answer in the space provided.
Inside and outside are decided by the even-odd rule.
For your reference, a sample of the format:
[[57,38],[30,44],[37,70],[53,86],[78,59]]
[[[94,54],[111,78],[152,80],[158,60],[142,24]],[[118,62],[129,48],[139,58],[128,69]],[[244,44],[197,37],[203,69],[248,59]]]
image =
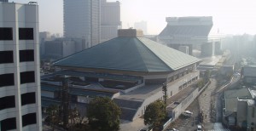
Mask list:
[[[20,50],[20,62],[34,61],[34,50]],[[14,63],[14,53],[11,50],[0,51],[0,64]]]

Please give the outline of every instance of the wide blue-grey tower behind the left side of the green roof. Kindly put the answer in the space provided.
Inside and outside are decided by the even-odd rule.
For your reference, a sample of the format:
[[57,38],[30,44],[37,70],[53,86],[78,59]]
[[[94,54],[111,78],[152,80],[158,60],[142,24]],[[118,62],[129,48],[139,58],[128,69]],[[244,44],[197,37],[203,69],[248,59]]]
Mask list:
[[84,38],[90,46],[101,40],[101,1],[64,0],[64,37]]

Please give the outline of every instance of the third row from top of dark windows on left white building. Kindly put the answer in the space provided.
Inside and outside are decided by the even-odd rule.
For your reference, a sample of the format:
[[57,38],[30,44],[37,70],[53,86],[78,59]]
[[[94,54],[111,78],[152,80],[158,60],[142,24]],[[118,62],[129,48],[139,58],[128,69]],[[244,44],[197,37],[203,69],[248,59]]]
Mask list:
[[[20,72],[20,84],[23,83],[35,83],[35,72],[34,71],[24,71]],[[0,88],[6,86],[15,85],[15,74],[3,74],[0,75]]]

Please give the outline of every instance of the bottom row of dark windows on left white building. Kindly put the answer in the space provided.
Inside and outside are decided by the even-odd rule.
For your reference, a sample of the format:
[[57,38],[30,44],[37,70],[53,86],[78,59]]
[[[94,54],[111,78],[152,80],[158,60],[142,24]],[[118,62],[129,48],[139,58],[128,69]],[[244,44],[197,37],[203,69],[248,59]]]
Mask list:
[[[37,123],[37,115],[36,113],[29,113],[22,116],[22,127],[25,127],[27,125],[35,124]],[[6,131],[11,129],[16,129],[16,118],[8,118],[4,119],[0,122],[0,130]]]

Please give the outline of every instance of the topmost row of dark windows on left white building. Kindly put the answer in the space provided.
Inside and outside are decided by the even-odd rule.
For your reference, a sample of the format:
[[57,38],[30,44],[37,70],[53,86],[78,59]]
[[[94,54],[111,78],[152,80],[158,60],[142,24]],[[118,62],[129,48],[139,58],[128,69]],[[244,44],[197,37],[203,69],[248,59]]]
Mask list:
[[[20,40],[33,40],[33,28],[19,28],[19,39]],[[13,28],[11,27],[0,27],[0,40],[9,41],[13,40]]]

